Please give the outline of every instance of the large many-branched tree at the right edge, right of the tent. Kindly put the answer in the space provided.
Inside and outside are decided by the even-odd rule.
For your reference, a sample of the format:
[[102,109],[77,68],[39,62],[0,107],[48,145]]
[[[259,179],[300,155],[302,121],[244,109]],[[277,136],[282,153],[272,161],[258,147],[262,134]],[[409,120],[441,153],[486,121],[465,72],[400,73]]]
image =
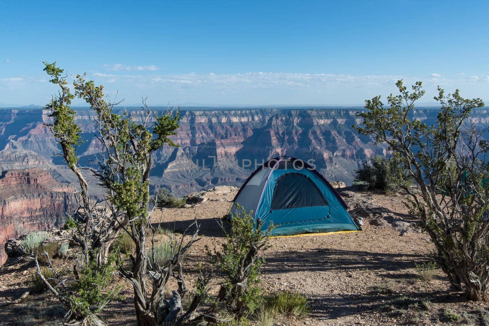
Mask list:
[[484,130],[470,123],[471,110],[484,106],[481,99],[464,99],[457,89],[445,94],[438,87],[441,108],[436,122],[427,125],[412,118],[415,102],[423,95],[422,83],[409,92],[398,81],[399,95],[365,101],[366,111],[357,113],[364,135],[387,143],[400,158],[409,176],[419,185],[416,192],[401,184],[410,195],[408,207],[421,217],[436,250],[436,259],[452,286],[467,298],[481,299],[489,286],[489,187],[486,154],[489,143]]

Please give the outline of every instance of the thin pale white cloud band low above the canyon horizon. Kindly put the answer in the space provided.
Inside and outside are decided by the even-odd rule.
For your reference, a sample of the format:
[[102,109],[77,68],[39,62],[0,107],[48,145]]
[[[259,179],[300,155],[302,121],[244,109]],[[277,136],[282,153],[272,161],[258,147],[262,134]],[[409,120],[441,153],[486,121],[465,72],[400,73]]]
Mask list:
[[[224,103],[224,104],[361,104],[365,99],[381,94],[396,93],[395,83],[402,79],[409,87],[422,81],[429,102],[436,95],[436,86],[447,92],[460,88],[464,97],[482,97],[489,91],[489,76],[461,76],[453,74],[424,73],[424,77],[405,75],[347,75],[347,74],[305,74],[284,72],[246,72],[234,74],[188,73],[163,74],[141,72],[136,68],[116,66],[112,71],[92,71],[88,78],[106,86],[107,94],[119,90],[119,98],[126,103],[139,102],[140,96],[148,96],[154,103],[164,103],[180,99],[182,102]],[[131,70],[132,69],[132,70]],[[44,77],[44,76],[43,76]],[[53,86],[41,83],[35,77],[0,78],[0,93],[8,96],[3,100],[14,101],[22,87],[32,83],[35,94],[44,99],[53,92]],[[33,95],[34,96],[34,95]],[[112,95],[111,95],[112,96]],[[37,100],[38,102],[40,100]],[[35,102],[35,101],[30,101]]]

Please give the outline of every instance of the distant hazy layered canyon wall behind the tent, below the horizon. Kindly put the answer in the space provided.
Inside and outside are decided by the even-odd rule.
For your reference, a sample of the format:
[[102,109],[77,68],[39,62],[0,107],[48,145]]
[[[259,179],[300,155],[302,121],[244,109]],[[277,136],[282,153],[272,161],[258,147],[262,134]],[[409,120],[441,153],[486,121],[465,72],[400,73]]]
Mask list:
[[[280,155],[312,160],[327,179],[351,184],[359,163],[387,154],[384,145],[375,145],[353,129],[353,124],[361,123],[356,118],[358,110],[361,108],[182,111],[174,137],[180,147],[165,146],[154,154],[151,190],[165,186],[183,195],[219,184],[240,186],[259,164]],[[82,164],[90,164],[98,151],[93,112],[77,113],[86,140],[77,152]],[[137,119],[140,113],[133,113]],[[412,118],[432,123],[436,115],[437,110],[419,109]],[[0,110],[0,170],[41,166],[56,180],[76,184],[62,159],[55,156],[60,148],[43,125],[49,119],[41,110]],[[488,110],[479,109],[469,122],[484,126],[488,121]],[[95,185],[96,180],[89,179]]]

